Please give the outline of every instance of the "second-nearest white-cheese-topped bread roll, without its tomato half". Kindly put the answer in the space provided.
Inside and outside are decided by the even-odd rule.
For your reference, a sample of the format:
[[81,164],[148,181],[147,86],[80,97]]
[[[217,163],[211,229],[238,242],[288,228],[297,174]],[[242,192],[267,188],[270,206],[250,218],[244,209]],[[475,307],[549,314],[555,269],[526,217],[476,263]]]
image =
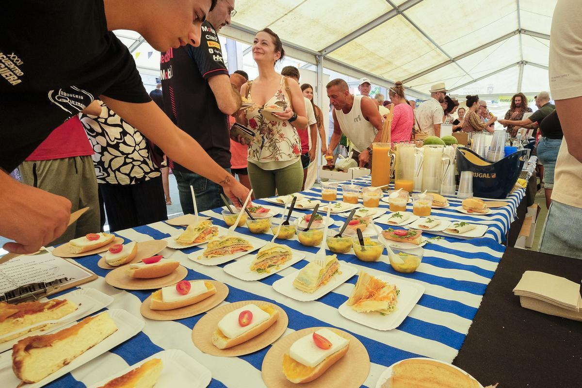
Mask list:
[[[255,322],[251,321],[248,326],[242,328],[239,325],[239,315],[246,310],[253,313]],[[260,306],[247,304],[229,312],[218,322],[218,328],[212,333],[212,344],[219,349],[237,346],[270,328],[278,318],[279,311],[269,303]]]

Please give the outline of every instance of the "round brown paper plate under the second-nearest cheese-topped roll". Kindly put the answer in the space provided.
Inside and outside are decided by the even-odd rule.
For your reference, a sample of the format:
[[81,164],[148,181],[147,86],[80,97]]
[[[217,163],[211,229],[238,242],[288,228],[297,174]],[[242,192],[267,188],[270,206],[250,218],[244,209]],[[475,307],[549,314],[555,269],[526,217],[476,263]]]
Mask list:
[[[235,311],[237,308],[241,308],[250,303],[253,303],[257,306],[264,304],[271,305],[277,311],[279,311],[279,318],[277,318],[275,323],[273,323],[270,328],[261,334],[258,334],[258,336],[243,342],[242,344],[238,344],[237,346],[233,346],[232,348],[228,349],[219,349],[215,347],[214,344],[212,344],[212,333],[214,333],[214,330],[217,329],[218,322],[229,312]],[[289,318],[286,312],[274,303],[258,300],[234,302],[217,307],[200,318],[192,330],[192,341],[194,342],[194,345],[196,345],[196,347],[204,353],[218,355],[221,357],[236,357],[239,355],[253,353],[274,343],[279,337],[283,335],[283,333],[285,333],[288,323]]]

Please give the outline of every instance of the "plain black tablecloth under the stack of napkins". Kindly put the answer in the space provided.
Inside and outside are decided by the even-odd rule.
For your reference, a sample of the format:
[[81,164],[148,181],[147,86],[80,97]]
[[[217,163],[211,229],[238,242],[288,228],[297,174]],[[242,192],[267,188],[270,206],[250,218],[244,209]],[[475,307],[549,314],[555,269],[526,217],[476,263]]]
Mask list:
[[580,283],[582,260],[507,248],[453,364],[485,386],[582,387],[582,322],[521,307],[526,270]]

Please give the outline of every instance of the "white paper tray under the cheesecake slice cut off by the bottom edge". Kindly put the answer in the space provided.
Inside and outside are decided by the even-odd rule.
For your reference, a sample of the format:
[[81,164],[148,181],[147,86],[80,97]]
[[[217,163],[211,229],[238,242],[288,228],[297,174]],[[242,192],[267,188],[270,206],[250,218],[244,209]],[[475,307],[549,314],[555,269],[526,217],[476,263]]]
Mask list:
[[88,388],[102,387],[109,381],[125,375],[125,373],[136,369],[152,358],[159,358],[164,364],[164,369],[162,369],[162,373],[159,375],[157,383],[155,383],[157,387],[205,388],[212,380],[212,372],[208,368],[184,351],[171,349],[162,350],[143,361],[136,362],[136,364],[128,366],[123,371],[113,373],[107,379],[101,380],[101,382]]

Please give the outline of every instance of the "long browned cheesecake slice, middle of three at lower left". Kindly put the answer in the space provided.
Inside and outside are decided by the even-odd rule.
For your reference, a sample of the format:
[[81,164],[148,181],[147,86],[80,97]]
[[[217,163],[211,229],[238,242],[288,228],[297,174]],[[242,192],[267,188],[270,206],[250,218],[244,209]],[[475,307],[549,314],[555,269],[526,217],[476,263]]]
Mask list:
[[26,337],[12,347],[12,370],[25,383],[39,382],[116,331],[106,311],[56,333]]

